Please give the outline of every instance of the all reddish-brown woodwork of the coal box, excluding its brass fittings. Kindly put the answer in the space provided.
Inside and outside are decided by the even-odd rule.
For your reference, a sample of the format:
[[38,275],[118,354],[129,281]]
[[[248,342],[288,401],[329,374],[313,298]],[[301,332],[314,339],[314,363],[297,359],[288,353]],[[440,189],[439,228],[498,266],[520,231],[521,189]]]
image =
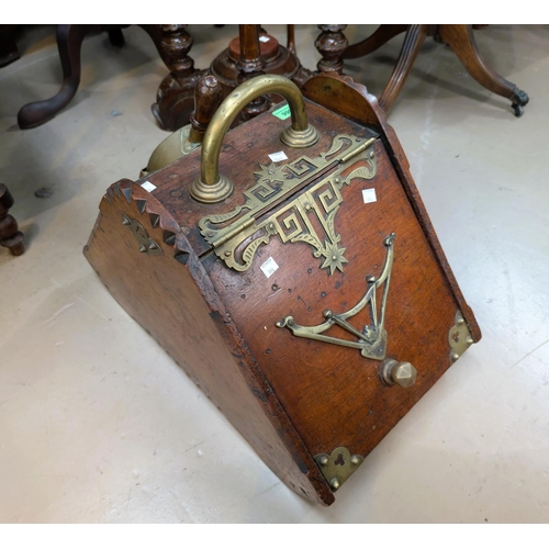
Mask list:
[[[475,341],[480,330],[376,99],[333,75],[313,78],[303,92],[311,99],[310,123],[321,135],[316,145],[283,146],[279,134],[289,120],[271,110],[225,136],[220,171],[235,191],[221,204],[190,198],[201,150],[149,175],[156,186],[152,193],[141,188],[144,180],[115,183],[101,203],[86,255],[121,305],[210,394],[266,463],[298,493],[329,505],[333,493],[313,457],[338,446],[366,457],[449,368],[448,333],[456,313],[461,311]],[[278,235],[259,246],[248,270],[227,268],[200,234],[199,221],[242,205],[243,192],[256,183],[254,173],[271,164],[269,154],[283,150],[285,164],[303,155],[316,158],[339,134],[376,137],[377,163],[373,179],[354,176],[341,187],[335,231],[348,260],[343,270],[329,274],[311,245],[282,244]],[[362,157],[343,175],[365,166]],[[365,203],[368,189],[376,191],[374,202]],[[141,254],[121,213],[142,220],[163,254]],[[381,361],[363,358],[358,349],[299,338],[276,326],[287,315],[300,325],[318,325],[325,310],[341,313],[356,305],[368,289],[367,277],[381,273],[383,243],[393,233],[386,356],[416,367],[417,381],[406,389],[384,385]],[[261,265],[269,258],[279,268],[268,278]],[[369,307],[349,322],[358,330],[371,324]],[[337,326],[329,335],[356,340]]]

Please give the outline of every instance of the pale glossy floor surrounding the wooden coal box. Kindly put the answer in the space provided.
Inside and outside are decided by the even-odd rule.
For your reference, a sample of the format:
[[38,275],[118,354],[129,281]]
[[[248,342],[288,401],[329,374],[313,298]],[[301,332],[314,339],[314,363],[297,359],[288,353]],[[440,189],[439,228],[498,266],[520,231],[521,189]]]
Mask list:
[[[283,25],[265,27],[285,42]],[[201,68],[237,34],[189,31]],[[389,115],[483,338],[329,508],[278,480],[82,256],[107,188],[136,179],[168,135],[150,112],[167,69],[139,27],[124,34],[122,49],[86,40],[78,94],[35,130],[16,113],[59,87],[53,26],[26,29],[22,58],[0,69],[1,181],[27,245],[0,248],[0,522],[547,523],[549,27],[475,33],[486,64],[529,93],[523,117],[432,38]],[[296,27],[309,68],[317,34]],[[379,94],[401,44],[347,72]]]

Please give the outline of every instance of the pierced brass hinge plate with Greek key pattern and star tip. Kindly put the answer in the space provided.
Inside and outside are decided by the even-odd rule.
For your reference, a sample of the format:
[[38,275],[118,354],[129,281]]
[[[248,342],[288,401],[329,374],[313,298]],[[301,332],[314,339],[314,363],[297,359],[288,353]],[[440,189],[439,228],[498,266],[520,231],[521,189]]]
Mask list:
[[[254,172],[256,183],[244,192],[245,203],[225,214],[202,217],[199,223],[202,236],[213,246],[216,256],[237,271],[249,269],[259,246],[272,236],[284,244],[306,243],[313,247],[313,256],[322,258],[321,268],[328,269],[329,274],[343,271],[348,262],[346,248],[340,245],[341,237],[334,227],[343,202],[340,190],[354,179],[376,176],[376,157],[373,152],[368,152],[374,141],[374,137],[338,135],[329,150],[317,158],[304,155],[285,165],[259,165],[259,170]],[[358,166],[344,176],[351,159]],[[330,169],[327,177],[261,219],[277,203],[296,194]],[[312,222],[313,216],[322,227],[321,233]]]

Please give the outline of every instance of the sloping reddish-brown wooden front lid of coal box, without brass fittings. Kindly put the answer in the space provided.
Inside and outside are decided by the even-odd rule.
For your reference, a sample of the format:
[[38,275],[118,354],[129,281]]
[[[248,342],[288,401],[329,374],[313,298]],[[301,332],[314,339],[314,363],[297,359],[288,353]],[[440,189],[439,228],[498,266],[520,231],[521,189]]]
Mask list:
[[[380,141],[376,156],[374,180],[355,178],[341,190],[336,231],[349,261],[343,272],[329,276],[310,245],[281,244],[278,237],[259,248],[253,267],[243,273],[231,271],[213,255],[204,260],[312,455],[338,446],[368,455],[450,366],[448,332],[458,303]],[[363,203],[365,188],[376,189],[377,202]],[[386,305],[388,357],[417,368],[418,379],[407,389],[383,385],[378,377],[381,362],[357,349],[294,337],[274,326],[287,315],[300,325],[322,324],[325,309],[339,313],[358,303],[367,290],[366,277],[381,272],[382,243],[391,233],[396,237]],[[267,279],[260,266],[269,257],[279,269]],[[349,322],[359,330],[371,324],[368,307]],[[356,340],[340,328],[330,329],[336,337]]]

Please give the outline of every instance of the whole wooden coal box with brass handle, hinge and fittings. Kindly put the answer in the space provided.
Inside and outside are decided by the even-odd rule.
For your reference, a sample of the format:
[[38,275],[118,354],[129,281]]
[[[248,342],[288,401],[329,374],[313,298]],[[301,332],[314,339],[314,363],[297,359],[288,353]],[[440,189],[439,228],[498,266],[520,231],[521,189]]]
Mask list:
[[[269,92],[291,121],[274,105],[225,135]],[[302,92],[243,83],[201,148],[108,189],[85,255],[272,471],[330,505],[481,333],[377,100],[335,72]]]

